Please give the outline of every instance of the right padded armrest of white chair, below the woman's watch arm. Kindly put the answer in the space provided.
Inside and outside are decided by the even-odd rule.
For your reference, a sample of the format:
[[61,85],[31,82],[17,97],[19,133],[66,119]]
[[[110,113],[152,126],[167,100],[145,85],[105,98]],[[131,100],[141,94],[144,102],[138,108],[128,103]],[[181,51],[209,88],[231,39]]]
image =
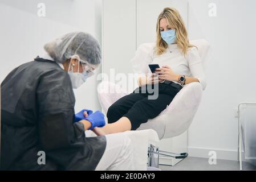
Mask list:
[[202,97],[202,86],[192,82],[180,90],[173,101],[157,117],[149,119],[137,130],[154,129],[159,138],[171,138],[188,130]]

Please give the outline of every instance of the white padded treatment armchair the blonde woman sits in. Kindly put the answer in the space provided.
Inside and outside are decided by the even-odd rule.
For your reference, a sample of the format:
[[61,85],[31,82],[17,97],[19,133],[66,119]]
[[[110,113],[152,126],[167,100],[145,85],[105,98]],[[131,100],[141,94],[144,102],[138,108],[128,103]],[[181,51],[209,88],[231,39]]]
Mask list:
[[[193,40],[190,43],[197,46],[202,61],[205,61],[209,52],[209,44],[206,40]],[[108,82],[101,82],[98,87],[98,98],[100,105],[105,113],[119,98],[128,94],[127,90],[123,90],[120,86]],[[147,123],[140,125],[137,130],[153,129],[157,132],[159,139],[172,138],[184,133],[193,121],[194,115],[198,109],[202,97],[202,86],[198,82],[192,82],[185,85],[184,88],[177,93],[173,101],[166,107],[156,118],[149,119]],[[159,151],[159,149],[149,148],[149,156],[151,154],[162,154],[176,159],[185,158],[188,154],[175,154],[172,152]],[[158,156],[159,158],[159,156]],[[149,159],[152,160],[152,159]],[[157,163],[158,164],[158,163]],[[151,165],[157,167],[157,165]]]

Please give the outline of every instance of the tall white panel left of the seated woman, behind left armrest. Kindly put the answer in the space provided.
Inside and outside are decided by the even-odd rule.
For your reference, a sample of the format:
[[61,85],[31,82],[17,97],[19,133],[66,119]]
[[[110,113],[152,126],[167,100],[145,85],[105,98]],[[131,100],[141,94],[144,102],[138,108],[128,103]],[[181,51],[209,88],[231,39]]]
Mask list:
[[[136,1],[103,0],[103,69],[110,75],[131,73],[129,60],[136,50]],[[109,77],[110,78],[110,77]]]

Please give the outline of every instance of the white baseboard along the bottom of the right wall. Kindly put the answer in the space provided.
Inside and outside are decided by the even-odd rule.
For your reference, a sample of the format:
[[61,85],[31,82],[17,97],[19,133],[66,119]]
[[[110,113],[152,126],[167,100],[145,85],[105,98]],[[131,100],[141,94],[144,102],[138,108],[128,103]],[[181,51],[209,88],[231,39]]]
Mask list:
[[[221,150],[216,148],[200,148],[200,147],[188,147],[188,154],[190,157],[196,158],[209,158],[210,151],[215,151],[217,159],[224,160],[237,160],[237,151],[235,150]],[[245,156],[242,151],[242,161],[245,160]]]

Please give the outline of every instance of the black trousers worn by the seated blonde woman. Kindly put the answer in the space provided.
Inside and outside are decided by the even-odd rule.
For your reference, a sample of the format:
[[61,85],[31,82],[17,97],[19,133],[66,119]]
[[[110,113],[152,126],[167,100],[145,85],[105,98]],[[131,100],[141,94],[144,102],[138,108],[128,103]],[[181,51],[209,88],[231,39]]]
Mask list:
[[[135,89],[131,94],[117,100],[108,108],[108,123],[114,123],[121,117],[127,117],[132,124],[131,130],[136,130],[141,123],[145,123],[148,119],[157,117],[172,102],[173,98],[180,89],[166,84],[157,84],[159,86],[159,96],[155,100],[148,98],[152,95],[147,92],[145,85]],[[154,88],[154,85],[153,85]],[[139,93],[138,93],[139,90]],[[144,90],[141,92],[141,90]]]

